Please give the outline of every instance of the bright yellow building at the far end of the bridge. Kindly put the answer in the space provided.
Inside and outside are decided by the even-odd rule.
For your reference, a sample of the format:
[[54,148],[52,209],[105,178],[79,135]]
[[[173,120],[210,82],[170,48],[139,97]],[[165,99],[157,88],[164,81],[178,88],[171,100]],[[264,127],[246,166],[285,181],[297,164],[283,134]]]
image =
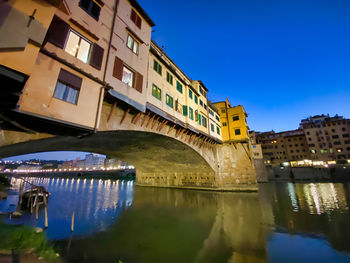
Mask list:
[[248,141],[249,127],[247,125],[247,113],[242,105],[232,107],[228,99],[222,102],[213,103],[219,110],[222,140],[227,141]]

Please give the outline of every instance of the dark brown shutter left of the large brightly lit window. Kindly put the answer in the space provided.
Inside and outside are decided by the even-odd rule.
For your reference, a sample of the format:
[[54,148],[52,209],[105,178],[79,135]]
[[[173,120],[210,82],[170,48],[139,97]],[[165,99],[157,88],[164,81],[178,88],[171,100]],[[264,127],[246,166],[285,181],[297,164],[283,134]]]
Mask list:
[[69,24],[64,22],[58,16],[54,16],[51,21],[50,27],[47,31],[44,43],[49,41],[52,44],[63,49],[64,44],[66,43],[69,29],[70,29]]

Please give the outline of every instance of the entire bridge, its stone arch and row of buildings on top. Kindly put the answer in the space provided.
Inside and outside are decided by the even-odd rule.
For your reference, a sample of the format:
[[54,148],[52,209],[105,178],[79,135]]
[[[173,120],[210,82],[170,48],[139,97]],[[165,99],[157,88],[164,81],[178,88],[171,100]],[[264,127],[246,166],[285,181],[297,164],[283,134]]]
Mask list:
[[257,189],[243,107],[225,105],[240,116],[227,137],[208,87],[151,41],[136,0],[0,5],[1,156],[95,151],[134,164],[140,185]]

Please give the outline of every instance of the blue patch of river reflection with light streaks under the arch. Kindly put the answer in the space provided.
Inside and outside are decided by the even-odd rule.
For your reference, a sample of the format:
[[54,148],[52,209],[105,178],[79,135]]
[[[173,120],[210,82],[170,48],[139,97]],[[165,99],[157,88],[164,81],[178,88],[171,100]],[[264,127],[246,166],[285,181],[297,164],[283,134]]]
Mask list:
[[[80,236],[106,230],[125,209],[133,203],[133,182],[127,182],[129,187],[119,186],[115,181],[96,181],[93,179],[56,179],[56,178],[26,178],[26,181],[43,185],[50,192],[47,236],[50,239],[62,239],[68,236]],[[0,211],[15,210],[18,202],[18,190],[22,180],[11,179],[13,194],[8,200],[0,203]],[[85,186],[85,185],[88,186]],[[6,219],[10,224],[29,224],[44,227],[43,210],[39,220],[34,214],[25,214],[22,218]],[[74,232],[70,232],[71,215],[75,213]]]

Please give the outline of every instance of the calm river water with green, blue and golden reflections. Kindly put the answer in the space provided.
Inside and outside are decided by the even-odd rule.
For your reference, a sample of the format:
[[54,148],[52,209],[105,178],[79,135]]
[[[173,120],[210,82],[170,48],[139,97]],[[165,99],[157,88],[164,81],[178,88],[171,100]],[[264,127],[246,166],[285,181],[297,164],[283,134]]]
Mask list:
[[[258,193],[28,178],[49,198],[46,235],[64,262],[350,262],[350,184],[268,183]],[[0,211],[15,209],[12,179]],[[44,226],[25,214],[9,224]],[[70,231],[75,213],[75,229]]]

